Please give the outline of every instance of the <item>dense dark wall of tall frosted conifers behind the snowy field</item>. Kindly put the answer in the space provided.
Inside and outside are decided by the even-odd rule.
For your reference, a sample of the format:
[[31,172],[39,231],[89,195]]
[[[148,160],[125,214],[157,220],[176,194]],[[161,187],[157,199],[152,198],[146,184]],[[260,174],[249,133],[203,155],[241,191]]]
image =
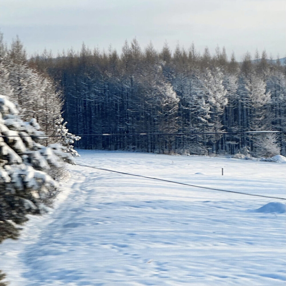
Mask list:
[[[237,62],[225,48],[200,55],[194,44],[173,53],[165,44],[158,52],[134,39],[120,55],[83,43],[57,58],[45,50],[29,66],[57,84],[67,126],[82,136],[78,148],[285,155],[285,63],[266,51]],[[236,133],[262,130],[282,133]]]

